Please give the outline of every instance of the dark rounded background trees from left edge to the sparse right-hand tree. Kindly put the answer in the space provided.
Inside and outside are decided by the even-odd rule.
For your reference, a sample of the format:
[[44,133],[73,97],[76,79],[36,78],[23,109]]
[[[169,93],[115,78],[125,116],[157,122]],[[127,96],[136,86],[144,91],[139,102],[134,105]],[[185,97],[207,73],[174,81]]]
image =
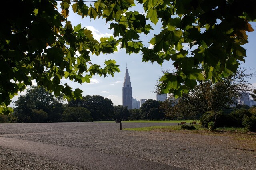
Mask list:
[[0,115],[0,123],[168,119],[160,109],[160,103],[149,99],[141,109],[128,110],[122,105],[114,106],[110,99],[100,95],[87,95],[65,103],[63,96],[55,97],[44,88],[33,86],[14,102],[13,113]]

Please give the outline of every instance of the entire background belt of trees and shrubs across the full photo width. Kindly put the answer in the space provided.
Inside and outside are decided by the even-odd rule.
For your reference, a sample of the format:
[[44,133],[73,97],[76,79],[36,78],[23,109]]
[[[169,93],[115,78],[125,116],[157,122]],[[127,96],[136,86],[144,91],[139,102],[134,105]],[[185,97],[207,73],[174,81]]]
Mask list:
[[0,123],[200,119],[203,127],[214,122],[214,127],[247,127],[256,131],[256,107],[238,105],[234,100],[236,90],[228,87],[226,82],[205,82],[178,99],[148,99],[140,109],[130,110],[114,106],[110,99],[99,95],[64,103],[62,96],[54,97],[42,87],[31,87],[14,102],[13,113],[0,115]]

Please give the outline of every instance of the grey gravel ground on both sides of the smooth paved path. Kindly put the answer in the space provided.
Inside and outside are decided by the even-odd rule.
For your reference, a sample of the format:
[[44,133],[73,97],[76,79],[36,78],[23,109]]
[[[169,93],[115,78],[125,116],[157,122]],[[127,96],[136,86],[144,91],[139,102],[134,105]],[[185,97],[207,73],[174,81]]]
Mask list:
[[[123,128],[176,125],[122,123]],[[0,124],[0,137],[83,148],[188,169],[256,169],[256,152],[238,150],[228,136],[119,130],[119,123]],[[237,149],[238,148],[238,149]],[[79,169],[0,147],[0,169]],[[42,168],[46,167],[46,168]]]

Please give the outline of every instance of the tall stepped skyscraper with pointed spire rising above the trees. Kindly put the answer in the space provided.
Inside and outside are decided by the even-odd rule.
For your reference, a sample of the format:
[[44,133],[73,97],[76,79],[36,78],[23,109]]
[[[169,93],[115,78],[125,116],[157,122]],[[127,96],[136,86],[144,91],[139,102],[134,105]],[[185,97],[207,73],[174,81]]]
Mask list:
[[127,106],[128,109],[132,109],[132,85],[131,85],[131,80],[128,73],[127,65],[126,65],[126,73],[124,77],[124,87],[123,87],[123,106]]

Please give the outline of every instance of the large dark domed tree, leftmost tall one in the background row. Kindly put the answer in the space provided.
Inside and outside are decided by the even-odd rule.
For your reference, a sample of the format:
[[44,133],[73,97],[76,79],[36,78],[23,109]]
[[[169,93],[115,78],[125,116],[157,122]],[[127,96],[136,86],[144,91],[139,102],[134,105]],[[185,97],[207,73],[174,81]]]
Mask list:
[[64,111],[58,98],[43,87],[35,86],[19,97],[14,106],[14,116],[19,122],[60,121]]

